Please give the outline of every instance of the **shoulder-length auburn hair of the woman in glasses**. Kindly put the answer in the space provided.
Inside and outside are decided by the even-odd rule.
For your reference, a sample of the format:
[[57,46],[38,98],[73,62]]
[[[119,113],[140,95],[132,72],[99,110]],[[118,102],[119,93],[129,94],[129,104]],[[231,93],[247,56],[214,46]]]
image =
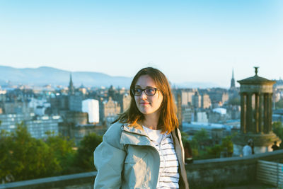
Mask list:
[[160,70],[153,67],[143,68],[139,70],[139,72],[137,72],[137,74],[134,76],[132,84],[129,88],[129,93],[131,96],[129,108],[124,113],[120,114],[115,122],[120,121],[122,123],[134,124],[137,121],[144,120],[144,114],[142,114],[137,108],[137,104],[134,100],[134,94],[132,93],[137,80],[140,76],[143,75],[150,76],[151,79],[154,80],[154,83],[156,84],[158,90],[161,91],[163,95],[163,101],[160,107],[160,116],[157,126],[161,129],[162,133],[171,133],[173,130],[175,130],[175,127],[179,127],[174,96],[166,76]]

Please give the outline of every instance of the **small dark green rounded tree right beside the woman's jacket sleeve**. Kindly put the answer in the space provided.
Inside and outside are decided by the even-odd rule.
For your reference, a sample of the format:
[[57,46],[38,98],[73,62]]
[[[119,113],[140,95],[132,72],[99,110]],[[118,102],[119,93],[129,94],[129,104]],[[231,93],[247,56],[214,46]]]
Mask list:
[[95,171],[93,165],[93,151],[102,142],[102,137],[91,133],[83,137],[76,154],[76,166],[81,171]]

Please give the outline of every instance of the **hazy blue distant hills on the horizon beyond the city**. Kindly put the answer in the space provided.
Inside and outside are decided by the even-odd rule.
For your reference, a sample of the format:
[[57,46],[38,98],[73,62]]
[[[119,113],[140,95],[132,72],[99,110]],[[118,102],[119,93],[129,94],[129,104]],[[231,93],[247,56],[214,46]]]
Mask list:
[[[66,71],[52,67],[38,68],[13,68],[0,66],[0,85],[4,85],[6,81],[11,84],[30,84],[35,86],[43,86],[46,84],[68,86],[70,74],[74,86],[105,86],[129,88],[132,78],[125,76],[110,76],[100,72],[90,71]],[[212,88],[219,87],[217,84],[204,82],[183,82],[175,83],[173,87],[178,88]]]

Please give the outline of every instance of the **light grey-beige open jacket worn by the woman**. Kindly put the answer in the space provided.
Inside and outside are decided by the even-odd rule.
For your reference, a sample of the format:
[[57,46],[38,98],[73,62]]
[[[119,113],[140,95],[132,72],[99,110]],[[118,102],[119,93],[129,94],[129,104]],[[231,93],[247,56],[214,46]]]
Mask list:
[[[189,188],[180,131],[172,132],[179,161],[180,188]],[[94,188],[156,188],[160,157],[141,125],[116,122],[94,151]]]

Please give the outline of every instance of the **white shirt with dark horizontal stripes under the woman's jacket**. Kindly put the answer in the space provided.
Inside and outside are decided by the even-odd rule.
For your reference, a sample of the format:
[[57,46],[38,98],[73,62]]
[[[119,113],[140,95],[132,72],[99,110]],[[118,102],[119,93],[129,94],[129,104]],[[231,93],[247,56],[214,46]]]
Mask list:
[[151,130],[147,127],[144,127],[144,131],[146,131],[160,156],[156,188],[179,188],[179,164],[171,134],[161,134],[161,130]]

